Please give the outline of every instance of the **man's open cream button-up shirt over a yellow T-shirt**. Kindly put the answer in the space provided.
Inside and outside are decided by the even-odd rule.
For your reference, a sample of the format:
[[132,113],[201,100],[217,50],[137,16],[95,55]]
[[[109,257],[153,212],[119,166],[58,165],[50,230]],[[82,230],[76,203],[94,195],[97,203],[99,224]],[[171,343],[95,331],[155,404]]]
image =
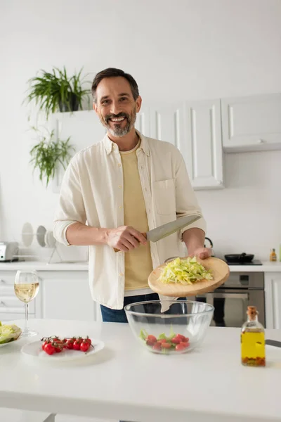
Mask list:
[[[141,145],[136,154],[149,229],[185,215],[196,213],[202,217],[178,149],[169,142],[139,132],[138,135]],[[69,245],[65,232],[75,222],[109,229],[124,225],[122,161],[119,148],[107,136],[74,155],[63,177],[53,226],[55,238]],[[188,229],[192,227],[206,231],[203,217]],[[184,230],[150,243],[153,268],[169,257],[183,256]],[[122,309],[124,273],[124,252],[116,253],[108,245],[89,246],[93,300],[112,309]]]

